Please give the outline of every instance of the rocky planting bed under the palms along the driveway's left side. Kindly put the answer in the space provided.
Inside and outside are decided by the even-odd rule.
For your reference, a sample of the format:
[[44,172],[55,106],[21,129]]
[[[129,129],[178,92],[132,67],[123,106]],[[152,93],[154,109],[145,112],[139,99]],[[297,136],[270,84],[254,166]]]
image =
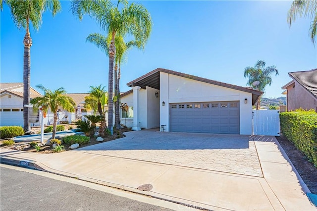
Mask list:
[[[118,138],[123,138],[123,137],[125,137],[125,135],[123,135],[123,133],[127,132],[127,131],[131,131],[131,129],[128,129],[128,128],[120,129],[119,133],[114,132],[112,136],[103,137],[104,141],[102,141],[102,142],[96,141],[96,137],[91,138],[90,142],[88,144],[80,145],[79,148],[87,147],[87,146],[95,145],[95,144],[100,144],[100,143],[107,142],[107,141],[112,141],[112,140],[115,140]],[[5,148],[5,149],[21,150],[21,151],[30,152],[30,153],[42,153],[42,154],[54,153],[54,151],[53,151],[54,148],[52,146],[45,146],[45,145],[41,146],[41,151],[37,152],[34,147],[30,146],[30,142],[17,142],[12,146],[3,146],[2,145],[3,141],[4,140],[1,141],[0,147]],[[41,144],[39,144],[39,145],[41,145]],[[71,150],[69,148],[70,146],[65,145],[65,144],[62,144],[62,145],[65,147],[65,151]]]

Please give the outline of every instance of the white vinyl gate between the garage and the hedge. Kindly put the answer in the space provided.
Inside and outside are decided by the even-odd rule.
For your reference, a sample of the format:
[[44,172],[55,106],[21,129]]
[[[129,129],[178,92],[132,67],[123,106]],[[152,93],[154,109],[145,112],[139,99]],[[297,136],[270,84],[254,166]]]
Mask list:
[[279,110],[253,110],[253,135],[279,136]]

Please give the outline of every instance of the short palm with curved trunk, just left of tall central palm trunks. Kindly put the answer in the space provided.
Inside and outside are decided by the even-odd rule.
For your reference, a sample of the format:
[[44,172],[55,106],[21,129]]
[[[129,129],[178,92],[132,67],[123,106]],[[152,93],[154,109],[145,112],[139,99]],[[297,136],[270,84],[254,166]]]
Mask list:
[[[105,135],[105,129],[106,129],[106,119],[105,119],[105,112],[103,112],[103,108],[105,107],[105,98],[106,98],[106,91],[105,87],[102,87],[102,85],[99,85],[97,87],[90,86],[90,96],[94,97],[98,104],[98,112],[99,115],[103,117],[103,120],[101,121],[101,125],[99,127],[99,135],[104,136]],[[109,115],[109,113],[108,113]]]

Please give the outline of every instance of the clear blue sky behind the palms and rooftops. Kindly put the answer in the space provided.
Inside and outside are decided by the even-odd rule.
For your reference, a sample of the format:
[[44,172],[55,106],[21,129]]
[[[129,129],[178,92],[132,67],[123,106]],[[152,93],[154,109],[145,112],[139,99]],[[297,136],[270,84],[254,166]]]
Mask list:
[[[152,15],[153,30],[145,51],[133,49],[121,67],[120,91],[126,83],[158,68],[166,68],[225,83],[246,86],[245,67],[257,60],[276,65],[278,76],[264,97],[280,97],[291,79],[288,72],[317,68],[317,49],[309,37],[310,19],[291,28],[287,11],[292,1],[139,1]],[[65,88],[87,93],[89,86],[107,89],[108,58],[86,43],[100,33],[96,21],[80,22],[61,1],[62,12],[44,13],[38,32],[31,28],[31,86]],[[6,5],[1,11],[0,81],[23,82],[23,37]],[[101,32],[103,33],[103,32]]]

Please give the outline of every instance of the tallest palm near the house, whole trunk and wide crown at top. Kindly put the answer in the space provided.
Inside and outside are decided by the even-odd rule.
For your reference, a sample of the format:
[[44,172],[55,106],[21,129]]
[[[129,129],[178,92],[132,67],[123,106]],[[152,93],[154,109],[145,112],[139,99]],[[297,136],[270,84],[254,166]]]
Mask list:
[[[119,8],[119,4],[123,6]],[[128,5],[127,0],[118,0],[113,4],[110,0],[73,0],[71,11],[82,20],[84,14],[94,17],[102,30],[111,34],[109,46],[108,72],[108,127],[112,132],[113,119],[113,65],[115,56],[114,39],[116,34],[131,35],[134,40],[147,41],[152,30],[152,18],[147,9],[139,3]]]

